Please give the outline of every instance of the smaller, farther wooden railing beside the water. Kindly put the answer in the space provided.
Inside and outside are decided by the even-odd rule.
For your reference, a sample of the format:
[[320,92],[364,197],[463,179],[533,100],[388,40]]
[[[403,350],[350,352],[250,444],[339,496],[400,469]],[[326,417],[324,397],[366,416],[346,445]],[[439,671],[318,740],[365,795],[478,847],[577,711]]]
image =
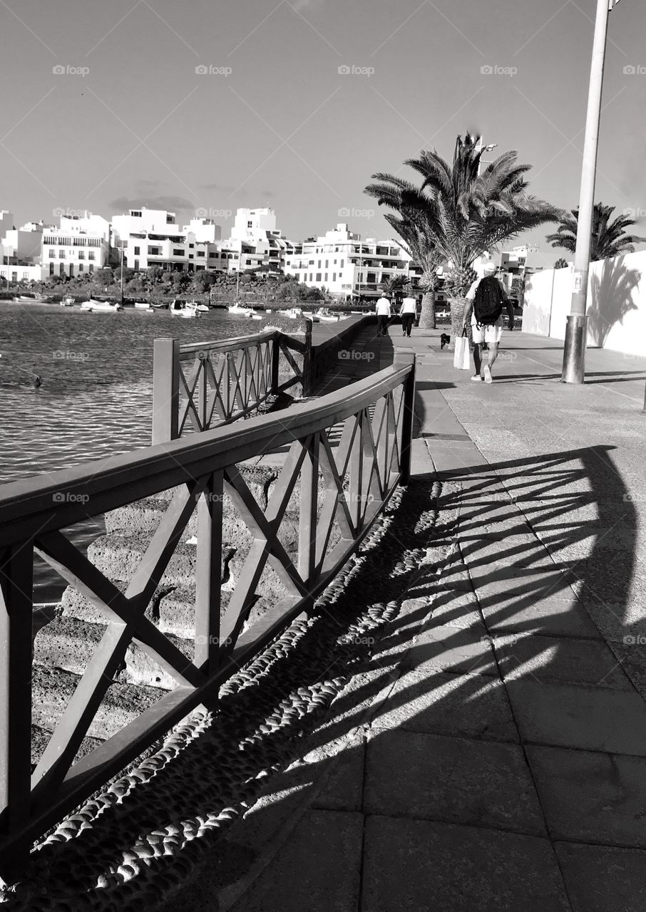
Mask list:
[[307,395],[310,350],[311,324],[302,341],[277,329],[193,345],[155,339],[153,444],[244,418],[297,384]]

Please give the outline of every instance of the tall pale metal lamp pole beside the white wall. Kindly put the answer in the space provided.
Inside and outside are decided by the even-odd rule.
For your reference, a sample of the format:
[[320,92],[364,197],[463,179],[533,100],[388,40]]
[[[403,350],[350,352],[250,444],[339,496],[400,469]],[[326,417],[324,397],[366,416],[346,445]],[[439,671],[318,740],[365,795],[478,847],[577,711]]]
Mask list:
[[574,254],[572,299],[566,326],[563,350],[563,383],[583,383],[585,378],[588,274],[590,245],[592,240],[592,215],[594,212],[594,188],[597,172],[597,149],[599,146],[599,120],[601,116],[601,90],[603,88],[603,67],[606,58],[608,15],[619,0],[597,0],[597,19],[592,46],[592,65],[586,118],[586,139],[583,145],[583,167],[581,170],[581,192],[578,201],[577,249]]

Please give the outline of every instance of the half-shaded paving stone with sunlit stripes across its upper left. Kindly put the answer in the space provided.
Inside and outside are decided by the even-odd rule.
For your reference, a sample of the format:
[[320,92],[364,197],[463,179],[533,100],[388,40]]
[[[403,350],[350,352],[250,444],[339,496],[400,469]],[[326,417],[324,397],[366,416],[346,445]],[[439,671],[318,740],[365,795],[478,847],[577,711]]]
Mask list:
[[484,741],[518,741],[502,681],[480,675],[429,673],[428,669],[402,675],[371,725]]

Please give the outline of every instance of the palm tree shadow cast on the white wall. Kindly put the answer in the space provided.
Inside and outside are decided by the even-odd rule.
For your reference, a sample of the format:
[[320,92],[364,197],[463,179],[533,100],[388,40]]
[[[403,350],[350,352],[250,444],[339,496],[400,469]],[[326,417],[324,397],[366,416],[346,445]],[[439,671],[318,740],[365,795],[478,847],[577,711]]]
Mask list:
[[593,273],[590,281],[591,305],[588,310],[589,338],[603,348],[612,327],[622,324],[631,310],[637,310],[634,292],[641,280],[638,269],[630,269],[625,257],[604,260],[601,273]]

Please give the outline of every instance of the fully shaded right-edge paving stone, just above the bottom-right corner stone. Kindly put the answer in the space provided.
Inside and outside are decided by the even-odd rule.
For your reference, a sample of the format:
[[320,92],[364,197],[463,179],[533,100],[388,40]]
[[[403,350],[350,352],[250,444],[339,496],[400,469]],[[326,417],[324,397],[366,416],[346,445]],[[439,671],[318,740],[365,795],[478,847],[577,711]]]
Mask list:
[[646,759],[527,745],[550,833],[646,848]]

